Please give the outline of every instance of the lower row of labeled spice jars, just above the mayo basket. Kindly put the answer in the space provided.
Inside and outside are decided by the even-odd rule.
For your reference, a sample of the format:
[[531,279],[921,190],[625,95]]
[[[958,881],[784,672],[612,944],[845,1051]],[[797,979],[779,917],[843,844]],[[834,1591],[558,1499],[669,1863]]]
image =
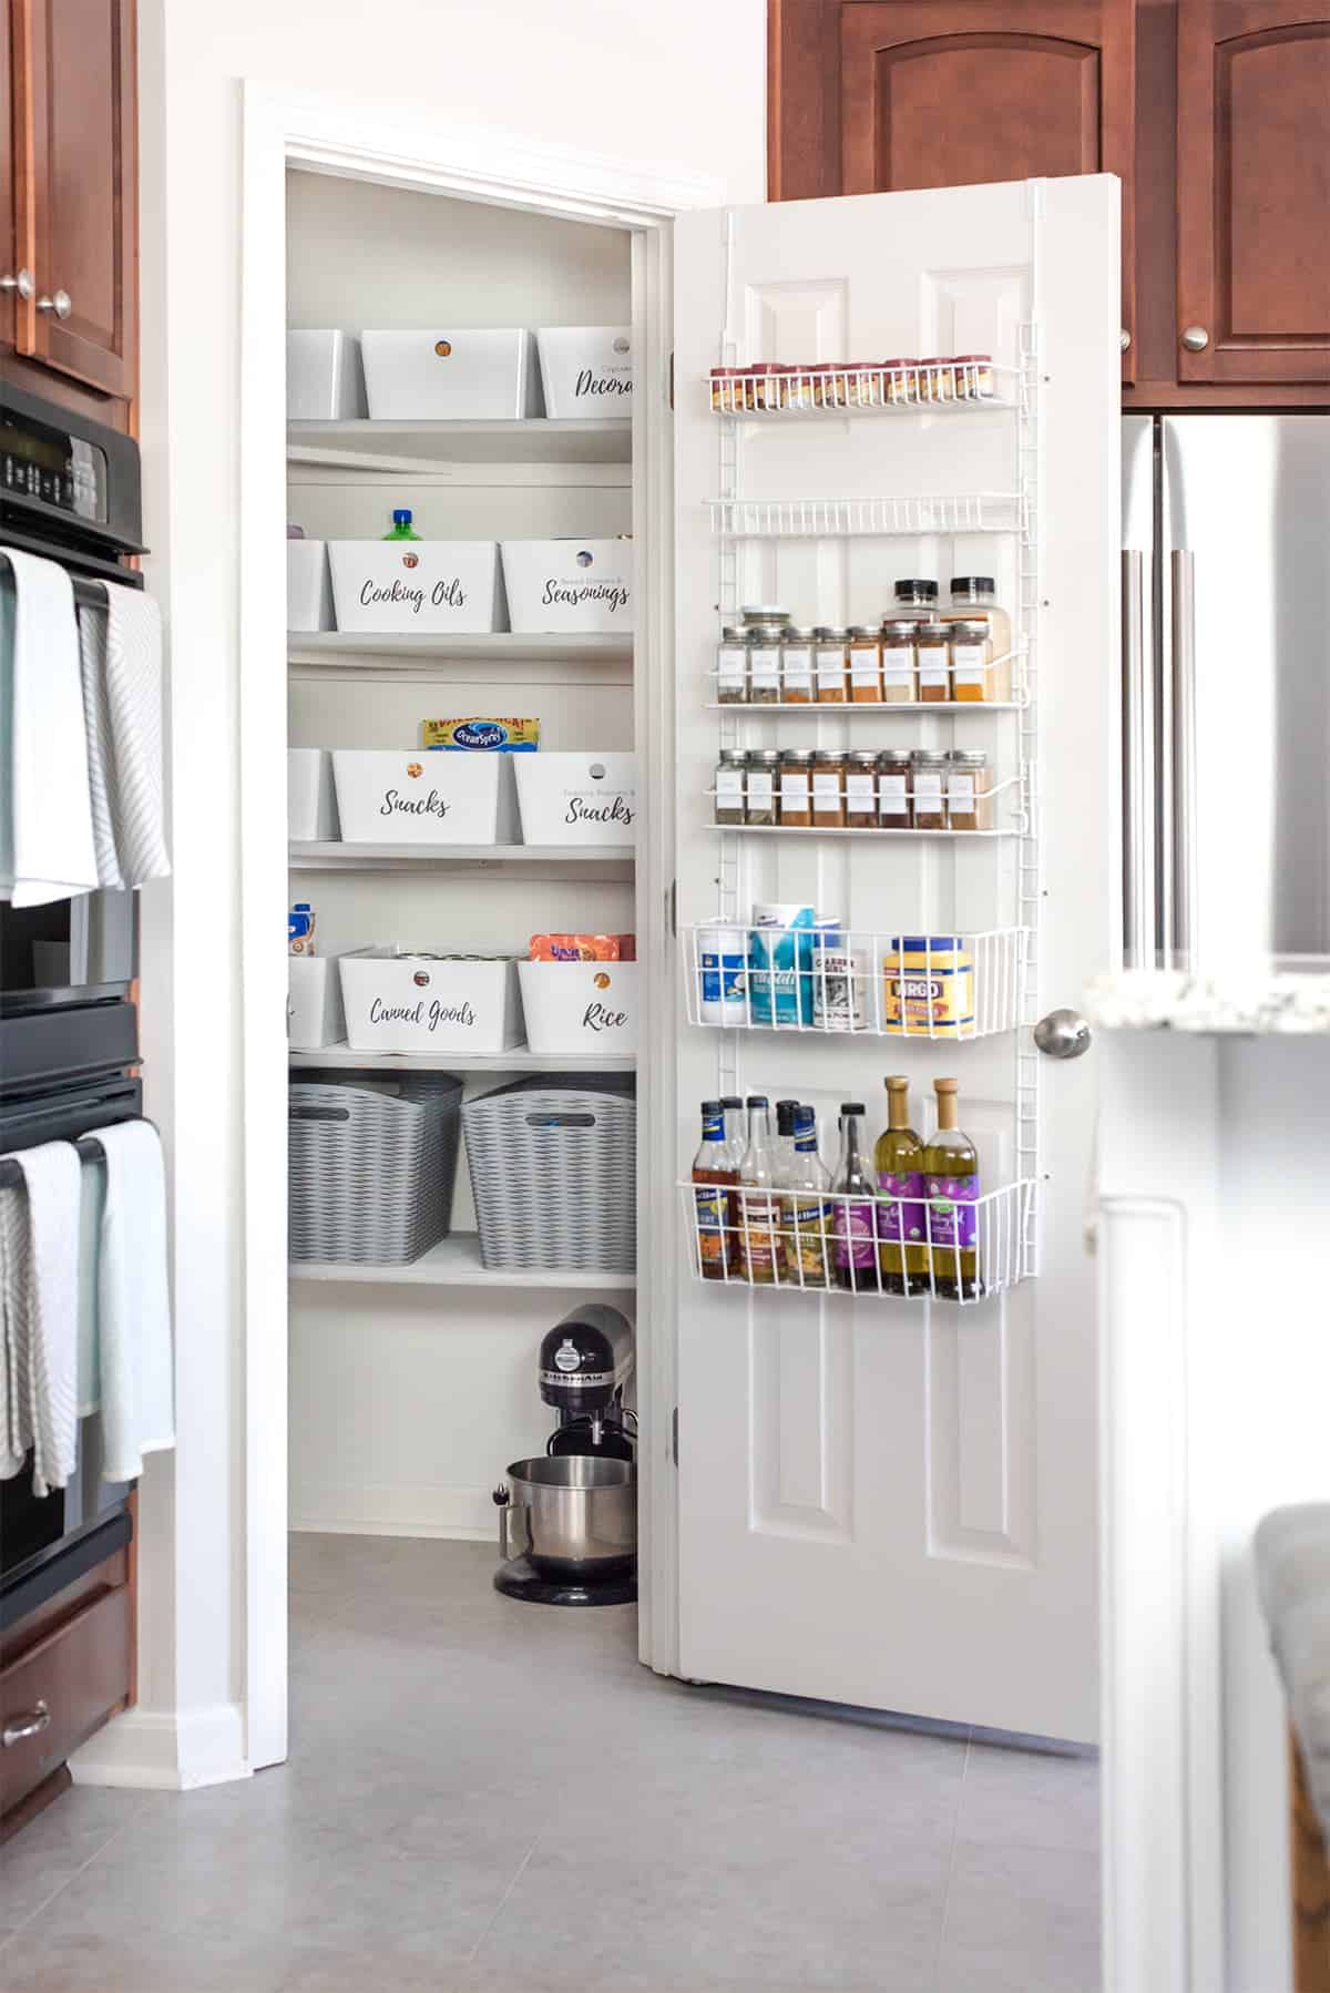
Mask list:
[[991,831],[987,753],[722,747],[716,823],[790,831]]

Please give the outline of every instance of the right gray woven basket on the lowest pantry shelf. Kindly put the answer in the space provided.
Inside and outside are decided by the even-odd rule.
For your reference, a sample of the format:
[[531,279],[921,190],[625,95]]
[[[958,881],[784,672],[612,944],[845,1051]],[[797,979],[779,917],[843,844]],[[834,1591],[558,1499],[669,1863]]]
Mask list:
[[638,1264],[632,1078],[514,1080],[463,1108],[487,1268]]

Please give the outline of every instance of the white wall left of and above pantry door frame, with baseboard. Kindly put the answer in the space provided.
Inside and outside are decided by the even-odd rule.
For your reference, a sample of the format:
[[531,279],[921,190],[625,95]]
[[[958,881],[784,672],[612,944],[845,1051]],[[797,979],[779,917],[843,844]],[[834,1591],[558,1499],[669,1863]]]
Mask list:
[[[764,0],[140,0],[146,536],[171,656],[175,879],[146,907],[175,1196],[177,1453],[144,1481],[144,1714],[86,1776],[241,1768],[237,411],[243,78],[764,195]],[[179,1712],[179,1724],[169,1722]],[[138,1752],[140,1760],[128,1760]]]

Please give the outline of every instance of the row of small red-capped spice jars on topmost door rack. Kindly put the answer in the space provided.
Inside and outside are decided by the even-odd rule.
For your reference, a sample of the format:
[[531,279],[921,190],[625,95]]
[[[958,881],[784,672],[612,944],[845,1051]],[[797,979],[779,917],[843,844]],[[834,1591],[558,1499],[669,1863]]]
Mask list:
[[933,359],[810,361],[792,367],[712,367],[712,409],[718,415],[770,415],[778,409],[925,409],[957,401],[993,401],[997,379],[991,353]]

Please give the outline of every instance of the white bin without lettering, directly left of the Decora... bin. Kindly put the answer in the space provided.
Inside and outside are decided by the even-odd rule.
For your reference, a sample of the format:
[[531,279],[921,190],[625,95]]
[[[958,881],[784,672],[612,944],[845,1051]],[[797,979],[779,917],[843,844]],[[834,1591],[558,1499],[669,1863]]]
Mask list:
[[522,327],[361,333],[375,423],[504,421],[538,415],[536,343]]

